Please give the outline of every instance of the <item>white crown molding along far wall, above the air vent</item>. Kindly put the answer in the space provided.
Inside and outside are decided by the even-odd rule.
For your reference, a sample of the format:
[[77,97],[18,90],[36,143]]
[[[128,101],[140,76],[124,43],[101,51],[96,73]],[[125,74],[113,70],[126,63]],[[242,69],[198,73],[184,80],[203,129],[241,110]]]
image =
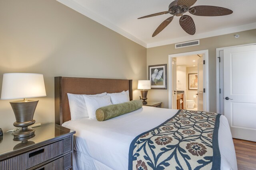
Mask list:
[[218,29],[215,31],[200,33],[200,34],[196,34],[196,35],[189,35],[186,37],[180,37],[180,38],[176,38],[176,39],[170,39],[170,40],[166,40],[166,41],[159,41],[156,43],[148,43],[147,48],[158,47],[158,46],[162,46],[162,45],[170,45],[170,44],[174,44],[174,43],[182,43],[185,41],[192,41],[195,39],[203,39],[203,38],[214,37],[214,36],[218,36],[218,35],[236,33],[236,32],[246,31],[246,30],[250,30],[250,29],[256,29],[256,22],[245,24],[245,25],[239,25],[236,27]]

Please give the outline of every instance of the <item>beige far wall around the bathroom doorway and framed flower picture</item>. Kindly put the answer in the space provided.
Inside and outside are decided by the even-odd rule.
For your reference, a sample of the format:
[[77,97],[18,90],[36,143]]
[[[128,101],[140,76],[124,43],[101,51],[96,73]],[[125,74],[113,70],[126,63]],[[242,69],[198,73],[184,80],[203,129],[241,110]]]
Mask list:
[[[235,34],[239,34],[240,37],[236,39],[234,37]],[[239,33],[231,33],[227,35],[200,39],[200,45],[194,47],[175,49],[174,44],[153,47],[147,49],[147,66],[155,64],[168,64],[169,54],[186,53],[190,51],[209,49],[210,111],[216,112],[216,48],[255,42],[256,29],[252,29]],[[148,99],[163,102],[163,107],[168,108],[168,89],[150,90],[148,92]]]

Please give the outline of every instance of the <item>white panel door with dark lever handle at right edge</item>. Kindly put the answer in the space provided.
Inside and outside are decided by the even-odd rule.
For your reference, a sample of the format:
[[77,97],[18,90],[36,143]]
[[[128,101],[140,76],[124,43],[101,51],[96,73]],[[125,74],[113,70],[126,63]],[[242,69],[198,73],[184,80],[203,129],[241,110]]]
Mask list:
[[232,137],[256,141],[256,45],[224,49],[224,98]]

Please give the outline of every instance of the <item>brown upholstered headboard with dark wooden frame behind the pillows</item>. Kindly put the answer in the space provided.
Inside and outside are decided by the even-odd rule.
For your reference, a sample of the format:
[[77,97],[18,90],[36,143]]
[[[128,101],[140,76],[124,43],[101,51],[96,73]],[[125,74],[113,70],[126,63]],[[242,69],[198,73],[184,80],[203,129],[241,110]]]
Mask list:
[[99,94],[129,90],[130,100],[132,100],[132,80],[55,77],[54,90],[55,123],[58,125],[62,125],[62,123],[71,119],[67,93]]

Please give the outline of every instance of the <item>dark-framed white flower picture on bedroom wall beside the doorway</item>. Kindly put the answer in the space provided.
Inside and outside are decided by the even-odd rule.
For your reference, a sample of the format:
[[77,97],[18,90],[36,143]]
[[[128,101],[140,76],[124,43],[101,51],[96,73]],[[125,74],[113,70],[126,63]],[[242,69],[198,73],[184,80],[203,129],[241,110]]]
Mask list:
[[167,64],[148,66],[151,89],[167,89]]

